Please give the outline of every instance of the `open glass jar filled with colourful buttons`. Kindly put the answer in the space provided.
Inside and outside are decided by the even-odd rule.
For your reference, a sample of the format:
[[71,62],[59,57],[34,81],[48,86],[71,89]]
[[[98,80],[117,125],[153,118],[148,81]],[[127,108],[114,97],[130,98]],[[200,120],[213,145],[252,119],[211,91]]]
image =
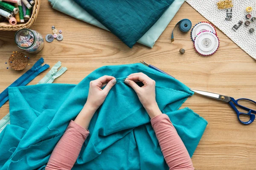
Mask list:
[[44,38],[40,33],[31,29],[21,29],[15,34],[17,46],[29,53],[38,53],[44,47]]

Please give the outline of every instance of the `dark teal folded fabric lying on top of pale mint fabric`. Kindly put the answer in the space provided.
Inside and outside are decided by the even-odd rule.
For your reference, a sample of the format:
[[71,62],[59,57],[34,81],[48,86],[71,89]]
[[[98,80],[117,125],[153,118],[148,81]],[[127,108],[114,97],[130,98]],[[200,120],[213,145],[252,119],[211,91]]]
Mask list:
[[132,48],[174,0],[74,1]]

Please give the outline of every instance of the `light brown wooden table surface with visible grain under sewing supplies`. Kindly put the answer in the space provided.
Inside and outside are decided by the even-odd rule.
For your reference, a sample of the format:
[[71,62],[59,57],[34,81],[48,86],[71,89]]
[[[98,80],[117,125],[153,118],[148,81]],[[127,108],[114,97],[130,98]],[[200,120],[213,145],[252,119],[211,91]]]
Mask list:
[[[90,72],[104,65],[130,64],[145,60],[161,68],[193,89],[212,91],[237,98],[256,100],[256,61],[217,29],[220,48],[211,57],[197,54],[190,40],[190,33],[175,28],[175,41],[171,33],[175,24],[188,18],[195,25],[206,21],[195,9],[184,3],[169,26],[155,43],[148,48],[137,43],[128,48],[117,37],[96,26],[76,20],[52,9],[42,0],[35,24],[31,27],[43,37],[51,34],[51,26],[63,31],[64,40],[45,42],[44,49],[29,55],[25,70],[6,69],[12,51],[21,51],[14,41],[15,32],[0,31],[0,91],[3,91],[40,58],[53,66],[61,61],[68,70],[54,83],[79,83]],[[180,48],[186,49],[181,55]],[[48,70],[49,71],[49,70]],[[47,74],[44,71],[29,85],[36,84]],[[182,108],[189,107],[203,116],[208,125],[192,157],[196,170],[255,170],[256,122],[242,125],[227,103],[193,95]],[[0,119],[9,112],[9,102],[0,108]]]

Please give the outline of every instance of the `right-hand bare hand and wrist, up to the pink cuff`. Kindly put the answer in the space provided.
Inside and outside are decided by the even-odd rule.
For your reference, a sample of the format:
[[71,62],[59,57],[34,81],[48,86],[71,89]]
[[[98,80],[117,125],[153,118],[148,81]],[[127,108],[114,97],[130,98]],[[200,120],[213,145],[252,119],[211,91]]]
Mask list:
[[[144,85],[140,87],[133,80],[139,80],[143,82]],[[140,102],[148,112],[151,119],[162,113],[156,102],[156,83],[153,79],[143,73],[134,73],[125,79],[125,83],[130,85],[137,93]]]

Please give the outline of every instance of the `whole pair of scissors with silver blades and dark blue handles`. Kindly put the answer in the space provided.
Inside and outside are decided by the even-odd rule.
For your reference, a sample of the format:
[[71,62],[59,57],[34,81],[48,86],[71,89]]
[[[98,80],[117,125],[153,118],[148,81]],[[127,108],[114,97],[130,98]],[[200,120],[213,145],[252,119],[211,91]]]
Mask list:
[[[241,98],[241,99],[234,99],[233,97],[230,97],[230,96],[224,96],[224,95],[221,95],[221,94],[215,94],[215,93],[211,93],[211,92],[207,92],[207,91],[198,91],[198,90],[192,90],[190,89],[191,91],[194,91],[195,93],[198,93],[198,94],[201,94],[201,95],[204,95],[204,96],[207,96],[207,97],[210,97],[210,98],[213,98],[213,99],[217,99],[217,100],[221,100],[223,102],[227,102],[230,104],[230,106],[234,109],[234,111],[236,111],[236,114],[237,114],[237,118],[238,120],[244,124],[244,125],[249,125],[251,124],[254,119],[255,119],[255,115],[256,114],[256,111],[254,111],[253,109],[250,109],[250,108],[247,108],[247,107],[244,107],[242,105],[239,105],[238,102],[239,100],[246,100],[246,101],[249,101],[249,102],[253,102],[254,104],[256,104],[256,102],[254,102],[253,100],[251,99],[245,99],[245,98]],[[244,109],[245,111],[248,111],[248,113],[243,113],[243,112],[240,112],[236,106],[238,106],[239,108],[242,108]],[[254,114],[252,114],[254,113]],[[244,116],[249,116],[250,117],[250,120],[247,121],[247,122],[243,122],[241,121],[241,119],[239,118],[240,115],[244,115]]]

